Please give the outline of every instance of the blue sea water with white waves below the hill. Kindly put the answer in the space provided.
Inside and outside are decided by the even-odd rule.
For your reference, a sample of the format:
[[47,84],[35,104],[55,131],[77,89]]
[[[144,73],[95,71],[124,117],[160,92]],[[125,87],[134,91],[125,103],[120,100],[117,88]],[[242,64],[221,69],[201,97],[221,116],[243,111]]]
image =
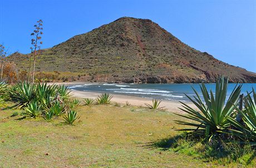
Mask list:
[[[228,85],[227,97],[232,93],[236,84]],[[79,84],[69,85],[70,89],[80,91],[91,91],[97,93],[110,93],[139,96],[142,98],[154,98],[161,100],[179,100],[188,101],[186,95],[195,95],[192,87],[198,91],[202,96],[199,84],[108,84],[108,83],[91,83],[91,84]],[[215,84],[205,84],[208,90],[215,91]],[[256,83],[244,83],[242,86],[242,93],[246,94],[247,91],[252,91],[252,88],[256,90]],[[228,99],[228,98],[227,98]]]

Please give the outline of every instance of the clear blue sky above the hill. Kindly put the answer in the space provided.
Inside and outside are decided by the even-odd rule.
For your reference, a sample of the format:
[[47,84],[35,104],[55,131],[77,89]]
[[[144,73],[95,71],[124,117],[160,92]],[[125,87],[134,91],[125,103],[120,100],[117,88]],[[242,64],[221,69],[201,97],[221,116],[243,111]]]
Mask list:
[[33,24],[44,22],[42,48],[128,16],[158,23],[184,43],[256,72],[256,0],[0,0],[0,43],[28,53]]

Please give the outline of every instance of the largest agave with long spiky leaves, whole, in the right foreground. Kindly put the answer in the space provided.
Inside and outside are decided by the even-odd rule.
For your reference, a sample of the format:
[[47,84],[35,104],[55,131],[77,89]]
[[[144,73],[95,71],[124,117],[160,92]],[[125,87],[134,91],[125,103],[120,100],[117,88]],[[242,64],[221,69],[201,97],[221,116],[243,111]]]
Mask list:
[[194,136],[205,135],[206,140],[210,140],[215,133],[228,128],[230,123],[227,120],[227,116],[230,118],[234,117],[233,111],[238,104],[241,87],[241,84],[237,84],[235,86],[227,100],[227,103],[225,103],[225,100],[227,96],[228,78],[220,77],[217,80],[215,97],[212,90],[210,90],[209,94],[205,85],[203,83],[200,85],[205,103],[201,100],[198,92],[193,88],[196,95],[194,96],[195,100],[190,98],[188,95],[185,95],[190,101],[192,101],[199,111],[180,101],[183,106],[183,108],[180,109],[188,115],[176,115],[195,121],[177,121],[178,124],[192,126],[192,128],[181,130],[192,131],[191,133],[193,133]]

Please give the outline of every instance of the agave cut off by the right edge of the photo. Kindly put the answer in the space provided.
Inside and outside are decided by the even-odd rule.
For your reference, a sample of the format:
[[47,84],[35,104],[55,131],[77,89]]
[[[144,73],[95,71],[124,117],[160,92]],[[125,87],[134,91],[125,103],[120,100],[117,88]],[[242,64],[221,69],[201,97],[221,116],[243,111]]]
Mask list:
[[232,134],[239,136],[243,140],[249,140],[251,145],[256,145],[256,93],[254,89],[252,93],[253,98],[247,92],[247,98],[244,100],[244,109],[237,108],[238,113],[242,115],[244,125],[234,118],[228,117],[228,120],[236,128],[235,130],[229,129]]

